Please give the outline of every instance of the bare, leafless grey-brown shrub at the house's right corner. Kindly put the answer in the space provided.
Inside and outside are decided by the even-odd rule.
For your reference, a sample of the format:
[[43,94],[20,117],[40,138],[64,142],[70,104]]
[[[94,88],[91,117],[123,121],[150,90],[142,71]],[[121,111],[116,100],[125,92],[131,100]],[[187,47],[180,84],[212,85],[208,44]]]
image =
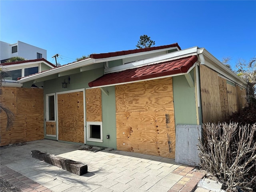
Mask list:
[[256,123],[205,124],[199,140],[200,166],[216,176],[231,191],[239,187],[256,190]]

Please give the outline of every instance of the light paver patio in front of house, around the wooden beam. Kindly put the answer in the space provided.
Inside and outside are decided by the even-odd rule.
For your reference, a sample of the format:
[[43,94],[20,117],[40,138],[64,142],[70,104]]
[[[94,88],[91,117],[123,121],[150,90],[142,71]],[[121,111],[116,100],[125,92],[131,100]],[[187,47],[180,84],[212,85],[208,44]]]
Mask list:
[[[118,150],[89,152],[83,146],[53,140],[1,149],[0,176],[24,192],[192,192],[203,173],[173,159]],[[48,152],[88,165],[82,176],[35,158]]]

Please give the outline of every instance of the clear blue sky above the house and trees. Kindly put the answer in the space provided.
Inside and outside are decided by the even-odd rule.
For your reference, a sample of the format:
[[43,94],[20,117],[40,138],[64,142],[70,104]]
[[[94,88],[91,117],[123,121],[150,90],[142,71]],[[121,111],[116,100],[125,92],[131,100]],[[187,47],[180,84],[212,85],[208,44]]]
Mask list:
[[155,46],[204,47],[217,59],[256,56],[256,1],[0,1],[0,39],[60,54],[135,49],[146,34]]

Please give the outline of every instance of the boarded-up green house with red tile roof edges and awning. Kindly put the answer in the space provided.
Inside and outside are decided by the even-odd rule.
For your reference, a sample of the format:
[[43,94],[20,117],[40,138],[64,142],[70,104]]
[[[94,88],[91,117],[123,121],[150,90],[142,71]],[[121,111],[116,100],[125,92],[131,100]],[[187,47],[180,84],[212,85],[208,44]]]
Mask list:
[[177,159],[198,139],[192,128],[246,104],[244,80],[205,48],[177,43],[91,54],[18,82],[44,86],[46,139]]

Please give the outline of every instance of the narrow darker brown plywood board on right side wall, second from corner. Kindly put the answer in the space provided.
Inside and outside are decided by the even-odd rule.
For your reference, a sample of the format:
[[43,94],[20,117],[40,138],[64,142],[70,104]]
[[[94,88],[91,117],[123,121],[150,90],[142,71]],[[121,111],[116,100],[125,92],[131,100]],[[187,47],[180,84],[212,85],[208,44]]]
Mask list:
[[218,77],[219,80],[219,90],[220,90],[220,105],[222,112],[222,119],[225,120],[228,117],[228,95],[227,95],[227,80]]

